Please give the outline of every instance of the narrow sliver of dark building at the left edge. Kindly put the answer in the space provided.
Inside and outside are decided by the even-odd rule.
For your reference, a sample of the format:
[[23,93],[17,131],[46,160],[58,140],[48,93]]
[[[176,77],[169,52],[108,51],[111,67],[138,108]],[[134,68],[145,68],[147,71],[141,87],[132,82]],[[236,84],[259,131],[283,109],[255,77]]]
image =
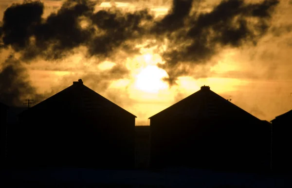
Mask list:
[[9,107],[0,103],[0,167],[6,165],[7,158],[7,116]]

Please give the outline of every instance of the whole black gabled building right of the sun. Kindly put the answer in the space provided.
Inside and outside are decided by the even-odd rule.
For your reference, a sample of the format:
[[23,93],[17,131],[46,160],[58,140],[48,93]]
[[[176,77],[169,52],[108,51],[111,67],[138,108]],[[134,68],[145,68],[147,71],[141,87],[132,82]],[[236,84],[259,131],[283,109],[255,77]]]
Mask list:
[[209,86],[149,119],[151,168],[270,170],[270,126]]

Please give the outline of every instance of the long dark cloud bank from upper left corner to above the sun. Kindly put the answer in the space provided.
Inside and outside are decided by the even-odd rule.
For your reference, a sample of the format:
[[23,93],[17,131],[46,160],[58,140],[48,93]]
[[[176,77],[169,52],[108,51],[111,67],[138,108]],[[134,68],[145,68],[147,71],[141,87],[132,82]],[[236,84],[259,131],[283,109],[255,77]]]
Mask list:
[[[141,38],[145,28],[140,24],[152,19],[147,10],[94,13],[95,5],[89,0],[68,0],[57,13],[42,19],[41,2],[14,4],[4,12],[4,44],[23,51],[23,60],[37,56],[60,59],[79,46],[87,46],[89,56],[107,57],[120,47],[127,50],[125,42]],[[87,26],[82,26],[82,20]]]

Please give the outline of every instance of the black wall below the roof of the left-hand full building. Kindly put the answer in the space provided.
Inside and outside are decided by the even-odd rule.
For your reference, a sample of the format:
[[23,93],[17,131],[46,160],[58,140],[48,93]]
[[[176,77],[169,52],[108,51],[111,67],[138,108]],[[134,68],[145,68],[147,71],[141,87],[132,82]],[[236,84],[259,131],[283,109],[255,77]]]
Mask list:
[[[105,169],[134,168],[135,118],[62,108],[21,117],[20,163]],[[27,161],[27,162],[25,162]]]

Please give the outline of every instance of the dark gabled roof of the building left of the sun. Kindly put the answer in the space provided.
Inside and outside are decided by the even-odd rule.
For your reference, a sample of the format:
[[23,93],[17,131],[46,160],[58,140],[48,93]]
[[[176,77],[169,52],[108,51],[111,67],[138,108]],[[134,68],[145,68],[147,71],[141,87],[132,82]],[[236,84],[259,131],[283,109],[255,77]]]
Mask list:
[[59,105],[65,105],[67,108],[72,108],[73,106],[73,108],[80,108],[84,112],[92,112],[96,109],[104,111],[107,109],[112,113],[127,113],[137,118],[122,107],[112,103],[110,100],[83,85],[81,79],[78,82],[73,82],[73,85],[56,93],[52,97],[34,105],[22,114],[39,109],[57,108]]

